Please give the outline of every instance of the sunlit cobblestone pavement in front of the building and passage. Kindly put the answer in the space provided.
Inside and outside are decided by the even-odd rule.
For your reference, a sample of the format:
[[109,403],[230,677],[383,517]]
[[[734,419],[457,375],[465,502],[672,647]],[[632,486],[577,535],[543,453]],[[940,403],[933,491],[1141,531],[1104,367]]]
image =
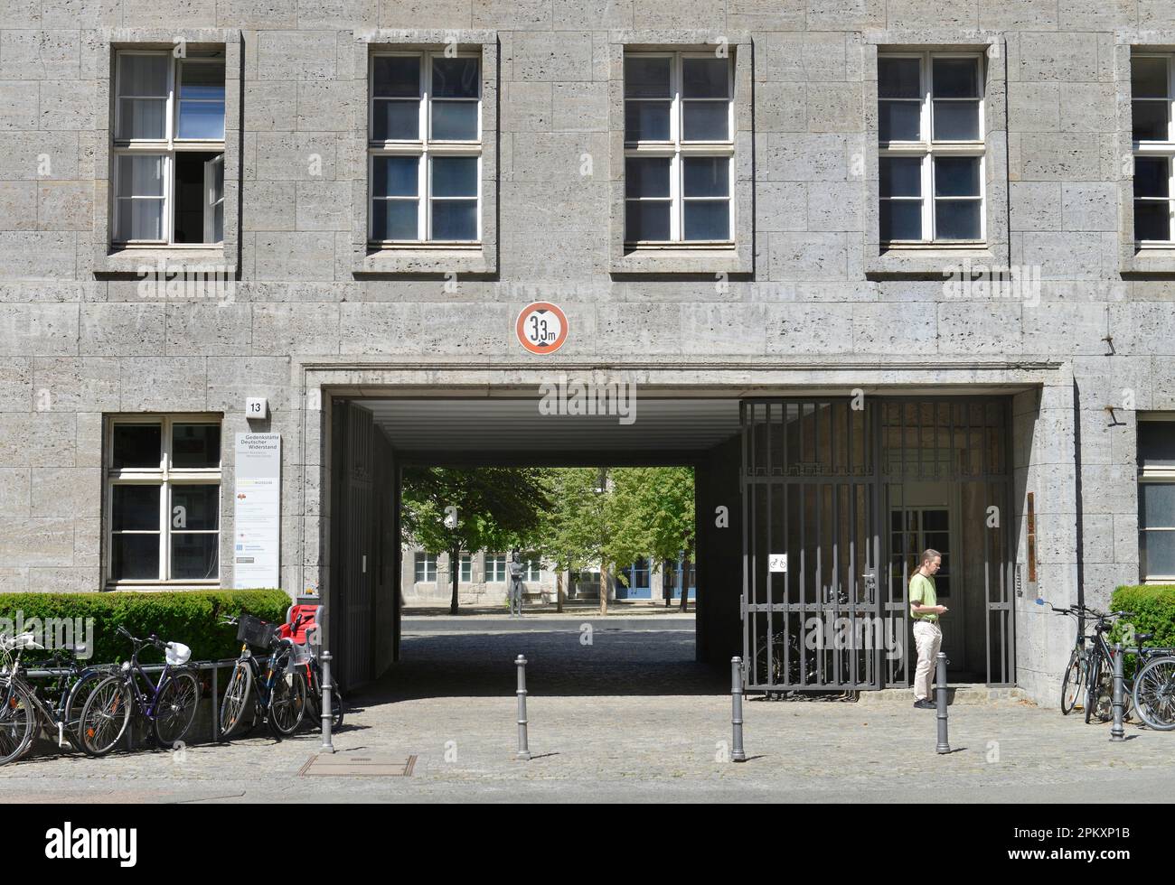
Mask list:
[[[745,764],[725,762],[728,676],[693,662],[692,629],[595,621],[405,624],[403,662],[354,698],[342,756],[417,757],[410,777],[297,777],[317,752],[306,731],[182,752],[46,756],[0,769],[32,802],[774,800],[1065,802],[1175,796],[1175,734],[1109,725],[1022,702],[951,711],[953,752],[935,754],[934,714],[900,703],[746,703]],[[680,623],[680,627],[692,627]],[[517,762],[515,670],[528,667],[530,746]]]

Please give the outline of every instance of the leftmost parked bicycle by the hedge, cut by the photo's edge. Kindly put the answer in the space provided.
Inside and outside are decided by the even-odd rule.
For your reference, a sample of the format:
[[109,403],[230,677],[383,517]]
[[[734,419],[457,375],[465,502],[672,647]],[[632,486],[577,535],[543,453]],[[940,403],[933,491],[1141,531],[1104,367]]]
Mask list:
[[40,689],[28,680],[22,662],[25,651],[42,650],[31,633],[0,636],[0,765],[19,759],[41,732],[52,729],[58,735],[58,746],[73,744],[81,749],[78,723],[89,693],[109,674],[108,667],[79,667],[75,653],[83,646],[61,648],[53,653],[56,677],[52,693],[56,701],[43,700]]

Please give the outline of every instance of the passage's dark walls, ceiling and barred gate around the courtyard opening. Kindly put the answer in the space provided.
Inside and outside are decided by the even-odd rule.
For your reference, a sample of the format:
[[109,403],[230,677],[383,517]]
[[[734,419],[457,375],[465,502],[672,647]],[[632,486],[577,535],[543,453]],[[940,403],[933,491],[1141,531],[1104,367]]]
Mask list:
[[[370,682],[401,657],[407,465],[689,465],[696,662],[728,673],[741,655],[758,690],[908,684],[905,561],[936,545],[961,609],[953,642],[965,678],[1009,684],[1007,411],[998,397],[874,397],[857,408],[847,398],[650,396],[634,414],[544,411],[517,392],[335,397],[328,620],[340,677]],[[992,507],[1005,515],[995,531]],[[788,565],[776,570],[779,554]],[[866,616],[872,634],[857,629]],[[851,644],[820,646],[845,620]],[[815,655],[804,654],[805,630],[827,634]]]

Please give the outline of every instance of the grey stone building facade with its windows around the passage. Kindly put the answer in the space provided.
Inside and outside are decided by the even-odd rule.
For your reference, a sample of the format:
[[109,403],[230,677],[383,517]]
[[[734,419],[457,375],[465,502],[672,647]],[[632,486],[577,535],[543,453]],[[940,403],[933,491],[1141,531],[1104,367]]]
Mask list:
[[[1170,4],[4,11],[0,590],[234,586],[234,439],[278,433],[276,582],[336,594],[345,630],[376,624],[352,666],[382,669],[391,493],[384,553],[348,565],[341,487],[392,489],[363,459],[396,440],[337,467],[340,404],[559,372],[665,396],[1001,398],[1015,590],[980,617],[1010,619],[1014,680],[1041,700],[1072,624],[1036,595],[1104,604],[1175,572]],[[566,317],[555,354],[516,339],[530,302]],[[737,518],[738,465],[723,475]],[[723,593],[713,623],[737,636],[741,590]]]

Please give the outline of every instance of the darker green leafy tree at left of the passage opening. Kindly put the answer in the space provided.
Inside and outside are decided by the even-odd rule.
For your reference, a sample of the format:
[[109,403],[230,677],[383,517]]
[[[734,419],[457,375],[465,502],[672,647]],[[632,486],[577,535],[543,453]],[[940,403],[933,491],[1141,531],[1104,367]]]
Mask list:
[[455,615],[462,550],[533,547],[550,506],[544,471],[537,467],[405,467],[403,540],[449,554],[449,613]]

